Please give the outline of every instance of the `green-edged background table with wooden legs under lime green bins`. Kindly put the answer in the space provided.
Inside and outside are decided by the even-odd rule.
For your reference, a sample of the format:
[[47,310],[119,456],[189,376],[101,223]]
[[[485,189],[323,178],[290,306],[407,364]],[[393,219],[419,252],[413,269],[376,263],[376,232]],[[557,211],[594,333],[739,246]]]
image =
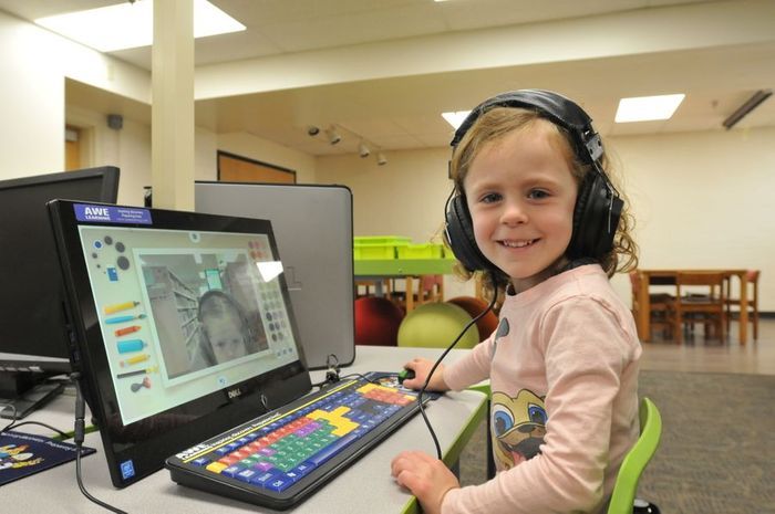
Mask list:
[[422,275],[450,275],[455,266],[454,259],[356,259],[353,274],[355,280],[376,280],[376,294],[381,291],[382,279],[404,279],[406,281],[406,312],[414,308],[412,292],[414,277]]

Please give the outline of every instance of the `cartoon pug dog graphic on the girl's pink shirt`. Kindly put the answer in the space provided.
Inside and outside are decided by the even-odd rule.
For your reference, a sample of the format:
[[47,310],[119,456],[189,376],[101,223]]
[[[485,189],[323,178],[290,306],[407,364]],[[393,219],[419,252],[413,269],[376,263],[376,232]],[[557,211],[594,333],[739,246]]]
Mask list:
[[544,399],[529,389],[521,389],[515,398],[503,392],[493,394],[493,450],[502,470],[540,453],[546,436]]

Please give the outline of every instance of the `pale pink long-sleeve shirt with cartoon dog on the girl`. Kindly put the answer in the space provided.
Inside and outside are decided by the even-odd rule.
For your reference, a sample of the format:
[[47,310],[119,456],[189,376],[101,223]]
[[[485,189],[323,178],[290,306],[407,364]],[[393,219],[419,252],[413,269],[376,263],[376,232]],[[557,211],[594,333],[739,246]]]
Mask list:
[[507,296],[495,334],[444,371],[454,390],[489,378],[498,473],[450,491],[442,513],[602,511],[639,433],[640,354],[597,264]]

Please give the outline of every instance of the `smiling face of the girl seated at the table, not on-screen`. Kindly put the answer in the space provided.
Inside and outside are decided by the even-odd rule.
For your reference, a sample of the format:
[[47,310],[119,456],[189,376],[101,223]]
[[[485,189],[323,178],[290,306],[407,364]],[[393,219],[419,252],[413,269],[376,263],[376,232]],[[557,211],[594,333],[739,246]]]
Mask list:
[[517,292],[547,279],[570,242],[578,186],[549,122],[484,145],[463,181],[482,253]]

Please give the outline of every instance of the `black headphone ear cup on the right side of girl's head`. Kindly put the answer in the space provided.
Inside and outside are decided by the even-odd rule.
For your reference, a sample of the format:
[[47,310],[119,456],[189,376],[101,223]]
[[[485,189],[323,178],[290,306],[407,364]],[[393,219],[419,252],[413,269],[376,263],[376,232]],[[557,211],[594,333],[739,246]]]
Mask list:
[[571,259],[599,259],[613,248],[623,202],[599,171],[585,178],[574,209],[574,233],[568,244]]

